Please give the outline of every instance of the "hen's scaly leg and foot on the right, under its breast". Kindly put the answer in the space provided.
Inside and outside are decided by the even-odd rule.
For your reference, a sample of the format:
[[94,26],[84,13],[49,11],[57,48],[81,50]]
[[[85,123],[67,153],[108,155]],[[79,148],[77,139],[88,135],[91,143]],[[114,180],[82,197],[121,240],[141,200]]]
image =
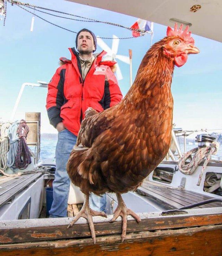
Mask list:
[[127,215],[133,216],[138,223],[141,221],[141,219],[137,214],[134,213],[134,211],[132,211],[126,207],[126,204],[123,201],[121,194],[116,193],[116,195],[117,195],[117,200],[118,200],[118,206],[117,206],[116,210],[114,211],[114,216],[110,222],[116,221],[116,219],[119,216],[122,217],[122,235],[121,235],[122,239],[121,239],[121,241],[123,242],[126,237]]

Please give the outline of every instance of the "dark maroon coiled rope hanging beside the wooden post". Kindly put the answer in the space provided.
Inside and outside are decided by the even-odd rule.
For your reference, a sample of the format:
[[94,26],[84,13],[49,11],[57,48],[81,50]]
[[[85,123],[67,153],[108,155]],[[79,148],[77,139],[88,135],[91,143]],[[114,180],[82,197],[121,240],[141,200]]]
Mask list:
[[29,128],[26,125],[25,120],[21,120],[18,125],[18,137],[19,137],[19,144],[18,144],[18,152],[16,155],[15,166],[18,169],[25,169],[31,163],[31,155],[29,153],[28,146],[26,144],[26,137],[28,134]]

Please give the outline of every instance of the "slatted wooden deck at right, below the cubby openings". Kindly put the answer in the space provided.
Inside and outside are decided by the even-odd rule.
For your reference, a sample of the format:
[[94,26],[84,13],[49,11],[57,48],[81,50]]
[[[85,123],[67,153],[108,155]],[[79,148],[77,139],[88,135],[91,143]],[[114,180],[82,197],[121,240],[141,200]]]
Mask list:
[[[180,209],[182,207],[192,205],[194,203],[202,202],[209,199],[214,199],[203,194],[193,191],[171,188],[164,185],[155,185],[153,182],[144,181],[137,191],[147,195],[170,209]],[[197,206],[195,208],[221,207],[221,202],[212,202],[206,205]]]

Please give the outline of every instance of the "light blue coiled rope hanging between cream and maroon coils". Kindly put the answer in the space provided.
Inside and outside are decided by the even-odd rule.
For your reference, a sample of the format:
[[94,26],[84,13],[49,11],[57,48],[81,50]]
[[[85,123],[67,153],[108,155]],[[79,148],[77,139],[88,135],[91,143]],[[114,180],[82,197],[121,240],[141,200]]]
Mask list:
[[8,128],[9,151],[8,151],[7,166],[10,167],[14,173],[15,173],[15,170],[17,169],[15,166],[15,159],[18,152],[17,129],[18,129],[18,121],[13,123]]

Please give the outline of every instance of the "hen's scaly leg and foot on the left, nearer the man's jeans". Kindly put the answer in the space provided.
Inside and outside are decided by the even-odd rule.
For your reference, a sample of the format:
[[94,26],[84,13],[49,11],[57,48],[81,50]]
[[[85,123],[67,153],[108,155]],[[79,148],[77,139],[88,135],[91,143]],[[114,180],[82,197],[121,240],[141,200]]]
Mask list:
[[102,216],[102,217],[107,218],[106,214],[103,211],[94,211],[89,208],[89,195],[86,195],[82,209],[79,211],[79,213],[76,215],[76,217],[69,223],[67,229],[69,227],[71,227],[75,222],[77,222],[80,217],[84,217],[84,218],[88,219],[92,239],[95,244],[96,243],[96,234],[95,234],[95,228],[94,228],[92,216]]

